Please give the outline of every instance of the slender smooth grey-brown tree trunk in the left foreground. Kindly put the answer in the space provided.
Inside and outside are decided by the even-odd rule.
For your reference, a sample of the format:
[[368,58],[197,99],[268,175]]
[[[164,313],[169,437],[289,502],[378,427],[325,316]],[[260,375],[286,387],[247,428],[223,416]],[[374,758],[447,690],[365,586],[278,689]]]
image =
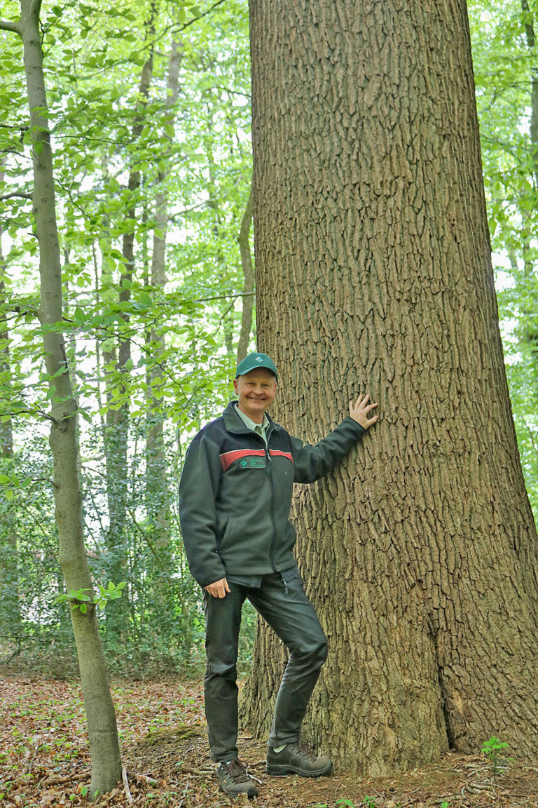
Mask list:
[[[40,246],[40,309],[44,356],[51,392],[50,445],[54,469],[54,499],[60,566],[67,590],[93,591],[82,537],[81,488],[78,478],[77,402],[73,399],[63,334],[53,330],[62,321],[60,249],[56,228],[52,149],[48,128],[43,53],[40,44],[40,2],[22,0],[16,23],[0,21],[0,28],[23,40],[24,69],[30,107],[34,168],[33,213]],[[121,776],[114,705],[99,638],[95,607],[85,614],[71,606],[77,644],[91,752],[91,787],[106,792]]]

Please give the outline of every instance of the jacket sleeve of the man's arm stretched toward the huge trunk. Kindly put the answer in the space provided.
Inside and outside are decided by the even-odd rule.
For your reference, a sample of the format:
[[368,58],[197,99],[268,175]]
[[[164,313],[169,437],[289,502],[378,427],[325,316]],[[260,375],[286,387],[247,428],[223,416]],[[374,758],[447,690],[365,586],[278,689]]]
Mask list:
[[365,429],[361,424],[348,417],[315,446],[303,444],[298,438],[291,438],[294,482],[315,482],[324,477],[346,457],[364,434]]

